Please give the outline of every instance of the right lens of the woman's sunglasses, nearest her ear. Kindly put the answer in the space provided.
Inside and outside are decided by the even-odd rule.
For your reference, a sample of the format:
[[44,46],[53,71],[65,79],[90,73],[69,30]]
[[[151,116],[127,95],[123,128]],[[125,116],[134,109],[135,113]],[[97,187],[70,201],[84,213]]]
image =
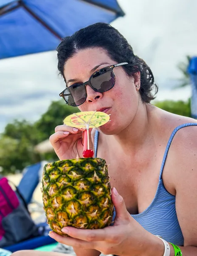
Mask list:
[[115,77],[110,68],[103,68],[96,72],[90,79],[92,87],[100,93],[110,90],[115,83]]

